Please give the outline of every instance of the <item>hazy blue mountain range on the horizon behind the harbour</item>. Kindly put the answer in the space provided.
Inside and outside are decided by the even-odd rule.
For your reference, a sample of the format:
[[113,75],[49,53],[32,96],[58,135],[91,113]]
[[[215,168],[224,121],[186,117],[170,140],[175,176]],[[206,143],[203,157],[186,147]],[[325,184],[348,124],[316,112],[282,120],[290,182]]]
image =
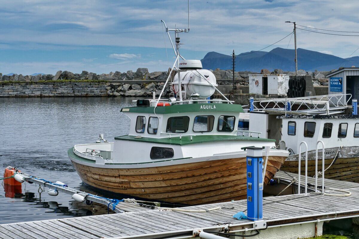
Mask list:
[[[283,71],[295,71],[294,49],[275,48],[270,52],[251,51],[244,52],[236,56],[236,71],[259,72],[261,69],[281,69]],[[339,66],[359,67],[359,57],[340,58],[330,54],[316,51],[309,51],[298,48],[298,70],[306,71],[330,71]],[[205,69],[222,70],[232,69],[232,56],[209,52],[201,60]]]

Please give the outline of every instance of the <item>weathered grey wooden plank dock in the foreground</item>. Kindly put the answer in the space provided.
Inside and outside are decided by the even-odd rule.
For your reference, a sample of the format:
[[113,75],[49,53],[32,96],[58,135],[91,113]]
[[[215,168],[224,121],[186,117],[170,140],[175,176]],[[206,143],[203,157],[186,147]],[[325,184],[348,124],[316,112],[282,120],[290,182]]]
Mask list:
[[[293,173],[279,171],[277,178],[291,180]],[[313,178],[308,178],[312,183]],[[298,223],[319,222],[359,216],[359,184],[325,179],[325,186],[347,189],[348,197],[323,196],[310,192],[308,195],[286,195],[265,197],[263,215],[268,228]],[[330,192],[328,192],[330,193]],[[334,192],[337,193],[337,192]],[[120,214],[85,216],[56,220],[32,221],[0,225],[0,238],[19,239],[74,239],[74,238],[162,238],[191,237],[196,230],[228,232],[252,230],[254,222],[237,220],[233,215],[246,211],[246,200],[210,205],[183,207],[189,210],[209,212],[180,212],[172,210],[150,210],[131,203],[120,203],[127,211]],[[250,231],[247,232],[251,234]]]

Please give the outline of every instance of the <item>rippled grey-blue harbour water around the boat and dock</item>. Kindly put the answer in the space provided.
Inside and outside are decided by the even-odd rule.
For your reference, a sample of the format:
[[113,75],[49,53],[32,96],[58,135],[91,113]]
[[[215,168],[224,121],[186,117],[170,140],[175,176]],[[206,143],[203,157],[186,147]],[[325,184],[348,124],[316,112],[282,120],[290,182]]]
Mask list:
[[[138,99],[138,98],[136,98]],[[7,166],[62,181],[101,196],[84,186],[67,157],[74,144],[94,143],[99,133],[113,142],[128,133],[129,119],[120,110],[134,106],[134,98],[0,98],[0,170]],[[0,176],[1,177],[1,176]],[[15,196],[0,189],[0,224],[106,214],[107,207],[87,206],[59,193],[52,197],[38,186],[24,183]],[[8,197],[6,197],[8,196]],[[359,238],[351,220],[325,224],[325,233]]]

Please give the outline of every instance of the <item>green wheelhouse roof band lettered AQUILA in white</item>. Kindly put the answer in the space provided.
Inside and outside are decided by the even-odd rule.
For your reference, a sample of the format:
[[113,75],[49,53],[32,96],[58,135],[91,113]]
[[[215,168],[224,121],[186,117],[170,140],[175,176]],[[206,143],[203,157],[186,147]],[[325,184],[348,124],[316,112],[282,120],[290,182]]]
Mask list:
[[[136,106],[136,107],[125,107],[121,109],[121,112],[130,113],[148,113],[153,114],[155,107],[149,106]],[[176,114],[186,112],[213,112],[213,111],[224,111],[224,112],[238,112],[244,113],[241,105],[237,104],[184,104],[184,105],[171,105],[171,106],[157,106],[156,114]]]

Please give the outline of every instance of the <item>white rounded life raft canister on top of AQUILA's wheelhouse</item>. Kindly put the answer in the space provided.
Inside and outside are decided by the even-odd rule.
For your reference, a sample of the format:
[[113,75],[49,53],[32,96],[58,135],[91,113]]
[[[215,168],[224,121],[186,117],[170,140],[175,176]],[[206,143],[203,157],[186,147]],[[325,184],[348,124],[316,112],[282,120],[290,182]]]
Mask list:
[[[205,79],[202,77],[205,77]],[[210,82],[213,86],[216,84],[216,77],[209,70],[198,70],[197,71],[185,71],[180,72],[181,85],[182,85],[182,97],[190,98],[192,94],[199,94],[200,98],[206,99],[214,94],[215,89],[208,83]],[[172,86],[174,92],[178,94],[178,73],[174,76]]]

